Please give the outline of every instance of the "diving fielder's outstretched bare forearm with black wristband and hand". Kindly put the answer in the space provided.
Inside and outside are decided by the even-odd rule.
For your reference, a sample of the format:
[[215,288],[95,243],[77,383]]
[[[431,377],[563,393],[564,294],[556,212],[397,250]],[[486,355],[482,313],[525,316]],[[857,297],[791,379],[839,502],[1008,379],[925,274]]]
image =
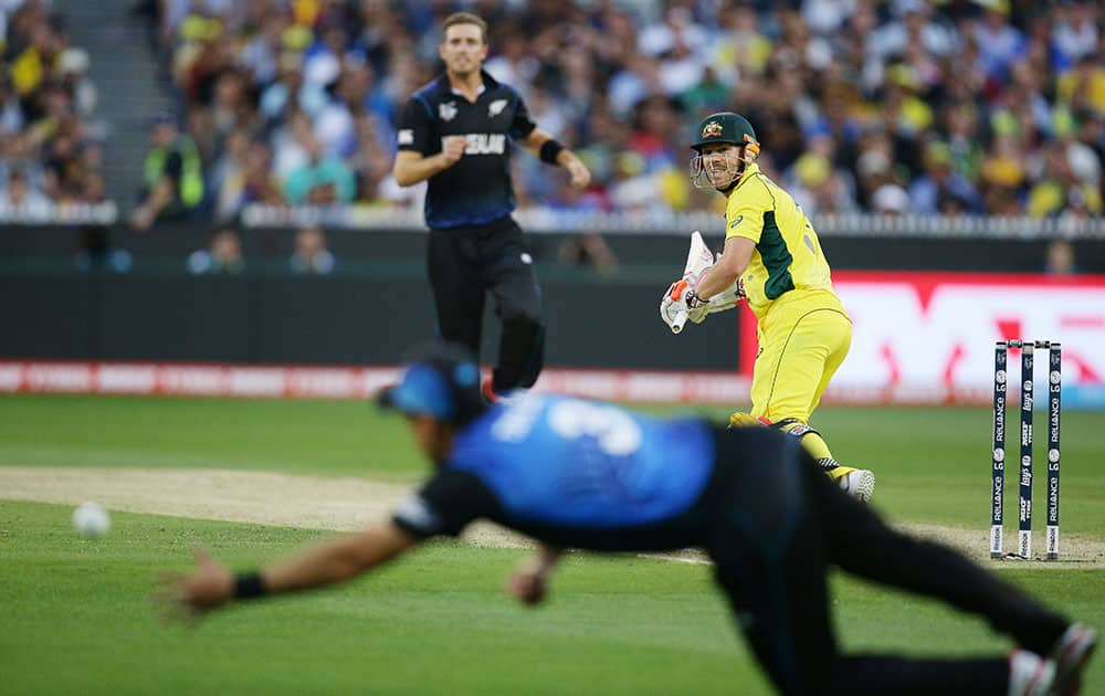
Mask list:
[[231,600],[299,592],[349,580],[391,560],[419,540],[393,523],[386,523],[318,541],[257,572],[238,576],[203,549],[196,549],[192,571],[160,574],[155,601],[169,619],[194,619]]

